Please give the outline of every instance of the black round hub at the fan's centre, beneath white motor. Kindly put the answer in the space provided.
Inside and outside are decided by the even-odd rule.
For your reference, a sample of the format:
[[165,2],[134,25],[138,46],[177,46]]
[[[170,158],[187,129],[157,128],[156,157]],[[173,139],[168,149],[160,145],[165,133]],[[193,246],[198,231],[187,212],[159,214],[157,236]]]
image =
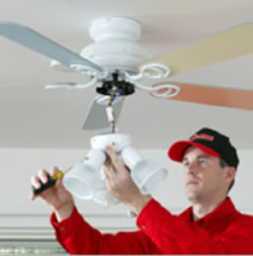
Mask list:
[[119,96],[127,96],[135,92],[135,85],[126,80],[119,80],[118,72],[114,72],[111,76],[112,79],[104,80],[102,86],[96,88],[97,93],[111,96],[113,91],[116,91]]

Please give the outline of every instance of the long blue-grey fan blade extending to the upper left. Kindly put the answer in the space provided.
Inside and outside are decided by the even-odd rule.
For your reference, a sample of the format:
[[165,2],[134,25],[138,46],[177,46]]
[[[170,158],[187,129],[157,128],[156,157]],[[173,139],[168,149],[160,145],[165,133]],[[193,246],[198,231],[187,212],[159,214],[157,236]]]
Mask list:
[[56,42],[47,39],[43,35],[40,35],[23,25],[1,21],[0,35],[8,37],[11,41],[18,42],[19,44],[44,54],[53,60],[58,60],[68,67],[72,64],[78,64],[94,68],[99,72],[102,71],[102,68],[95,63],[82,58],[78,54],[73,53],[69,49],[60,46]]

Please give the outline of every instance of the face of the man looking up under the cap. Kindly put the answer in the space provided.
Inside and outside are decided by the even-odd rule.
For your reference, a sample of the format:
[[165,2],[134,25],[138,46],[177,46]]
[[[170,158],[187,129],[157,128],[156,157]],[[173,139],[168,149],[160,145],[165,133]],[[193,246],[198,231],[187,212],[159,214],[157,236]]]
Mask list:
[[226,173],[218,157],[192,146],[183,156],[183,169],[185,193],[190,202],[209,202],[226,195]]

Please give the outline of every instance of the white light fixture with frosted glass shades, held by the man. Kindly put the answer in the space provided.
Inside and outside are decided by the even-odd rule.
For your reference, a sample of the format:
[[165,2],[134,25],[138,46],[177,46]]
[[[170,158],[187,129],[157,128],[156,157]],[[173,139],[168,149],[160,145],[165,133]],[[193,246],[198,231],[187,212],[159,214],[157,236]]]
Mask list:
[[168,171],[158,163],[145,160],[131,146],[128,134],[102,134],[91,139],[92,150],[85,160],[77,163],[63,178],[63,184],[73,195],[83,200],[94,200],[105,206],[114,205],[118,200],[106,189],[101,172],[106,160],[104,149],[111,145],[121,155],[123,163],[130,169],[133,181],[144,194],[151,194],[165,180]]

